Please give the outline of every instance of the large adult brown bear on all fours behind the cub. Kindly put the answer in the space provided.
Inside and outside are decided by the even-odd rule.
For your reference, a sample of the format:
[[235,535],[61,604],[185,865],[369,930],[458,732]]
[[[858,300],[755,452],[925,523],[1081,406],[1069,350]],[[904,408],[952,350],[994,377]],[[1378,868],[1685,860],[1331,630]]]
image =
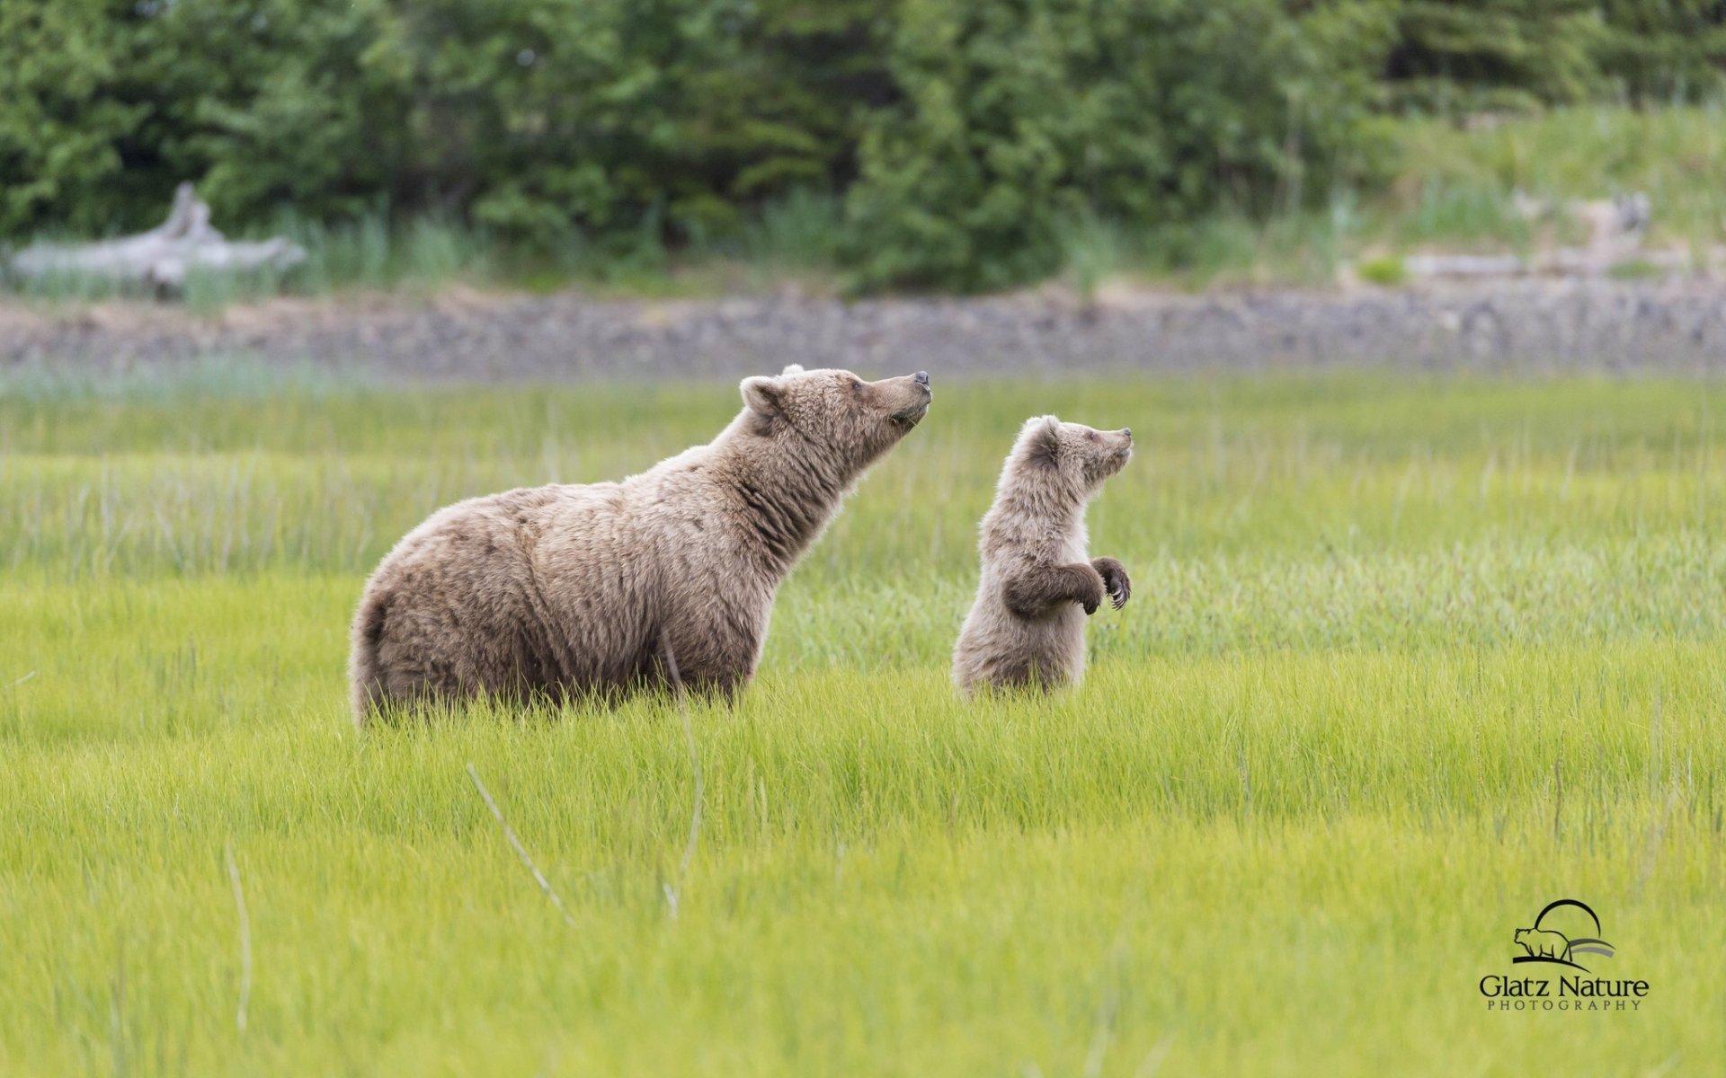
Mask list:
[[929,411],[929,374],[746,378],[718,438],[621,483],[457,502],[385,555],[354,617],[354,719],[423,699],[566,699],[754,674],[773,592]]

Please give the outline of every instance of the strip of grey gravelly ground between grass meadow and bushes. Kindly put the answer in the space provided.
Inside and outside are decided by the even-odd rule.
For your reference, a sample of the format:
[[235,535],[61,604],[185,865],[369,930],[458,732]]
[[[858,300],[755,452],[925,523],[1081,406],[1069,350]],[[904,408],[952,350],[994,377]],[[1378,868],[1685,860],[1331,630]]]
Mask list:
[[86,373],[211,355],[430,381],[740,376],[785,362],[866,373],[1726,369],[1719,283],[1517,281],[1353,291],[1055,291],[989,298],[433,300],[0,305],[0,366]]

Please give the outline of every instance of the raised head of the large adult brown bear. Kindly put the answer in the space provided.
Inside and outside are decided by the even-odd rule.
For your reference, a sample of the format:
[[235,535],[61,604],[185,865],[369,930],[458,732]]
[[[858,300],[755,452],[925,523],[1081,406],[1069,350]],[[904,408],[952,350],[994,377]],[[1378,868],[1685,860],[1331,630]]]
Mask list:
[[746,417],[758,435],[801,435],[847,469],[865,467],[929,412],[929,373],[863,381],[851,371],[804,371],[742,381]]

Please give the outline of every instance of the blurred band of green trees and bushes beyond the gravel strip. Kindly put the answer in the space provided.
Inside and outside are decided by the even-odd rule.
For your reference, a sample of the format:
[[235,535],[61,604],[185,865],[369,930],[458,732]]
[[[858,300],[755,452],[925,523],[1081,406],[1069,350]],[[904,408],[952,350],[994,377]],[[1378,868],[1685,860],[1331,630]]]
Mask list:
[[1717,0],[5,0],[0,241],[181,179],[311,288],[1298,279],[1512,186],[1712,240],[1723,72]]

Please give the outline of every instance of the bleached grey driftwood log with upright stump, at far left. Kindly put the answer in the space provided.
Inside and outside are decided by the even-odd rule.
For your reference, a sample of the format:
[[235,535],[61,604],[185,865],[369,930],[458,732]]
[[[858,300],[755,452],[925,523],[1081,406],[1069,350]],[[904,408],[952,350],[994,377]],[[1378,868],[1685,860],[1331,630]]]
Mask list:
[[98,243],[35,243],[12,259],[21,278],[90,276],[178,290],[193,271],[247,273],[288,269],[306,250],[285,236],[264,241],[228,240],[211,224],[211,207],[190,183],[174,191],[167,221],[136,236]]

